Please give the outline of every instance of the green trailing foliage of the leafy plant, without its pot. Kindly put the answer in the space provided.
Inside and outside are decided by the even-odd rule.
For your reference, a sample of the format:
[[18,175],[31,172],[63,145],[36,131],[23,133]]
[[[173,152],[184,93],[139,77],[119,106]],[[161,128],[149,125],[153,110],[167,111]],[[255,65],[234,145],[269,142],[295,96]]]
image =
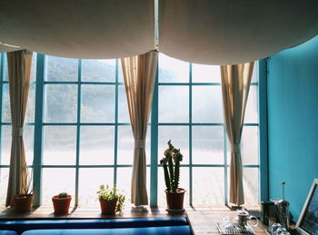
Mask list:
[[97,191],[98,197],[106,201],[113,201],[117,199],[116,212],[123,213],[124,209],[124,194],[120,193],[116,186],[113,189],[109,185],[101,184],[99,186],[99,191]]

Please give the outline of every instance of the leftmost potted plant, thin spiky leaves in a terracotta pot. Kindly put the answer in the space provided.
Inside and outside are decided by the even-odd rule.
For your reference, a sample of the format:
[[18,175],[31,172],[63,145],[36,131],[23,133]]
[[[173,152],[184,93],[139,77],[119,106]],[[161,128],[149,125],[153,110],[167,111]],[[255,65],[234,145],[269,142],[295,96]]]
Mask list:
[[14,198],[14,210],[18,213],[26,213],[31,211],[32,203],[33,203],[33,171],[31,172],[31,176],[29,171],[27,171],[27,167],[25,164],[26,176],[25,182],[22,183],[22,192],[20,194],[15,195]]

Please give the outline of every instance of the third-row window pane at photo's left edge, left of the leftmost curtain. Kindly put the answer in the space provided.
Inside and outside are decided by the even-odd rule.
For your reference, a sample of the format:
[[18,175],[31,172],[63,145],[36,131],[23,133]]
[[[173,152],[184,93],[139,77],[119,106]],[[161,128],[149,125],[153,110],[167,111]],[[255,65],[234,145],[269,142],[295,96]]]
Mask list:
[[10,164],[10,153],[11,153],[11,125],[2,126],[2,135],[1,135],[1,164],[9,165]]

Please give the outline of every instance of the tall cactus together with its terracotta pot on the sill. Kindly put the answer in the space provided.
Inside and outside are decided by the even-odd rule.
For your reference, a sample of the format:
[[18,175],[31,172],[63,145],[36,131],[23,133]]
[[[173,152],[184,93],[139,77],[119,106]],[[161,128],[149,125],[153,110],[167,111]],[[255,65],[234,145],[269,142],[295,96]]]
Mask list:
[[168,149],[164,151],[164,158],[160,164],[164,167],[165,195],[167,211],[184,211],[184,192],[179,188],[180,162],[183,161],[183,154],[176,149],[171,141],[168,142]]

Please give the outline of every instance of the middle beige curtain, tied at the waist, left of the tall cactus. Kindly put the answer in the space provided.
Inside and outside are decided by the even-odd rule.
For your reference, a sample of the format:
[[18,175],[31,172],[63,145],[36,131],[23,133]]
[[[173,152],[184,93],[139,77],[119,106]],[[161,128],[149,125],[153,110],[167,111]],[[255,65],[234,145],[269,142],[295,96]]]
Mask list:
[[157,51],[122,59],[124,86],[134,134],[131,202],[135,206],[148,205],[145,137],[153,101],[157,61]]

